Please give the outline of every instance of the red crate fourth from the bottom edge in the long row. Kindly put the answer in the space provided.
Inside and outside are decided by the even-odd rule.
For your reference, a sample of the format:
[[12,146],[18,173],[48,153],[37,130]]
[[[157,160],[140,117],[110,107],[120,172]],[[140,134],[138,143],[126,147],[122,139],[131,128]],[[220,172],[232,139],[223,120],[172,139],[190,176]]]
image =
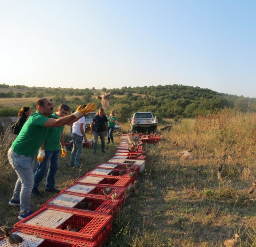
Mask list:
[[90,183],[76,183],[66,188],[65,190],[63,190],[61,194],[67,193],[67,194],[81,196],[81,197],[86,195],[92,195],[92,196],[97,195],[106,199],[106,195],[103,193],[104,188],[106,187],[111,189],[110,196],[114,193],[117,193],[118,199],[123,198],[126,187],[112,186],[112,185],[106,186],[104,184],[90,184]]

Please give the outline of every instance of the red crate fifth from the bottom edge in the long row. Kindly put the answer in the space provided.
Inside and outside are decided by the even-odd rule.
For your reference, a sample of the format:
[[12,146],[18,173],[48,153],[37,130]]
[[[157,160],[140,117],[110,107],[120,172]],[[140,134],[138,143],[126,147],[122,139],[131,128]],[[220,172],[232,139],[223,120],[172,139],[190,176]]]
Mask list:
[[90,174],[75,181],[75,183],[90,183],[90,184],[104,184],[115,185],[119,187],[127,187],[131,182],[130,178],[123,178],[111,175]]

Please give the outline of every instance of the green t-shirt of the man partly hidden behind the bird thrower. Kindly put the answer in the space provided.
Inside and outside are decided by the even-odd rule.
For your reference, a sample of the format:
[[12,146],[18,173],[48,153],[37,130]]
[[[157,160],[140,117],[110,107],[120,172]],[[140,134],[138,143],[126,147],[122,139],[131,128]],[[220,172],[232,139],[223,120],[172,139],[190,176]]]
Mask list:
[[[50,117],[59,118],[53,113]],[[60,149],[61,133],[63,132],[64,126],[61,127],[51,127],[48,136],[44,142],[44,150],[46,151],[56,151]]]

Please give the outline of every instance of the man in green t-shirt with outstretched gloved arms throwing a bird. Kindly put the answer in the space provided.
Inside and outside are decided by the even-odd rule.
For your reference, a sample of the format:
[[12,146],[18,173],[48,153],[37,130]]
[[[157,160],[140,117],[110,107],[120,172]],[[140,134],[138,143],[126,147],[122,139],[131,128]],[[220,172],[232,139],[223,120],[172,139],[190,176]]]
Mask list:
[[79,106],[75,113],[54,119],[51,117],[53,103],[47,98],[37,99],[36,113],[28,118],[8,151],[9,162],[18,175],[9,204],[20,205],[19,219],[24,219],[33,213],[30,210],[30,197],[34,186],[34,156],[48,136],[49,127],[71,124],[96,108],[94,104],[88,104],[85,108]]

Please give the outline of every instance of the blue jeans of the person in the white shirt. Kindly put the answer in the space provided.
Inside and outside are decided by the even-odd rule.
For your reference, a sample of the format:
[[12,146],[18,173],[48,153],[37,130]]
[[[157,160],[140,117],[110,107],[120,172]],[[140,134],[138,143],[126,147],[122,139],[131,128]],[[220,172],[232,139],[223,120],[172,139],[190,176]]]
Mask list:
[[73,140],[73,149],[70,155],[70,166],[80,167],[79,160],[83,152],[83,136],[75,133],[71,134]]

